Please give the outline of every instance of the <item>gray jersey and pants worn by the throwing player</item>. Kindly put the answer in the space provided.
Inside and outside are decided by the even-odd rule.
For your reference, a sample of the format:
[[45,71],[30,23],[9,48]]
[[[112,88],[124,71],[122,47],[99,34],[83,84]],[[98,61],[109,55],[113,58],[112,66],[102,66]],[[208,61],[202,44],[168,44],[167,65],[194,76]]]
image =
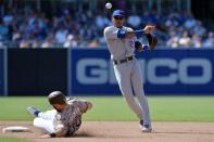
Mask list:
[[[123,30],[133,30],[124,27]],[[111,53],[113,67],[119,89],[129,107],[135,112],[143,125],[151,126],[148,101],[143,91],[142,75],[137,59],[135,57],[136,38],[118,38],[119,28],[110,26],[104,29],[108,49]],[[136,96],[136,99],[135,99]]]

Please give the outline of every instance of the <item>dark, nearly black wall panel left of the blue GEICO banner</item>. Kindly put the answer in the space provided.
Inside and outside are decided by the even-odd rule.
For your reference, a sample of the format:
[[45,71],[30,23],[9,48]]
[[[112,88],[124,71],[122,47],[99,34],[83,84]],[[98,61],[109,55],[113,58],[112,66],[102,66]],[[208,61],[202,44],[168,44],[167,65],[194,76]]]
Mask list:
[[67,92],[66,49],[9,49],[8,95]]

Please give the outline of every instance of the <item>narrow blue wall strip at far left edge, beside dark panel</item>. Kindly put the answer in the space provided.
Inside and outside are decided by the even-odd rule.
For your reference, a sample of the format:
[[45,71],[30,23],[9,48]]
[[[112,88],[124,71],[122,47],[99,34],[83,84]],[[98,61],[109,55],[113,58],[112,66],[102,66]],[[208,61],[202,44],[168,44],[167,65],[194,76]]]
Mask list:
[[0,49],[0,95],[4,95],[4,49]]

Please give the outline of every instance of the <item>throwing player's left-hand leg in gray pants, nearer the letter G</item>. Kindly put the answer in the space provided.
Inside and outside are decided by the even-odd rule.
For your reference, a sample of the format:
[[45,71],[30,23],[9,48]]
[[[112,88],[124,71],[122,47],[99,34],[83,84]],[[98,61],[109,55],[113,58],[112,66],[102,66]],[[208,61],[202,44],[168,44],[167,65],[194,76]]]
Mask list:
[[135,112],[139,119],[142,119],[141,108],[134,98],[129,69],[126,68],[125,64],[121,64],[114,66],[114,72],[121,92],[125,96],[128,106]]

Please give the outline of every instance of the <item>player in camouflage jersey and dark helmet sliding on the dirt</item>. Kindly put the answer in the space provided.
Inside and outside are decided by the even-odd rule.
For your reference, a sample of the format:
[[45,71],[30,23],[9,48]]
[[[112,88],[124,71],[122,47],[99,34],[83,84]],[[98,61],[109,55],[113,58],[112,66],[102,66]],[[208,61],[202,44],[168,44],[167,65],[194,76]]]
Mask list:
[[41,138],[72,137],[81,125],[81,115],[92,107],[85,100],[70,99],[60,91],[54,91],[48,96],[54,109],[40,112],[35,107],[27,111],[34,115],[34,126],[48,132]]

